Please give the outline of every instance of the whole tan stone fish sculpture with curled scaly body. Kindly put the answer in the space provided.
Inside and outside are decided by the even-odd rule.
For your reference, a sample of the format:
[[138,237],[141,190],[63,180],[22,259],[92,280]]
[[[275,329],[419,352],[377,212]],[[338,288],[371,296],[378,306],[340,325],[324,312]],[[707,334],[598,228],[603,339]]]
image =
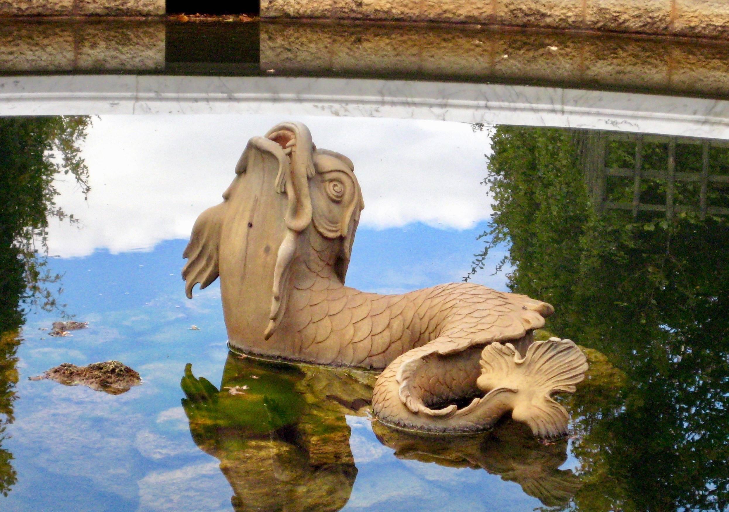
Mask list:
[[364,208],[354,165],[301,123],[250,139],[223,202],[192,228],[187,297],[220,276],[230,347],[263,357],[384,369],[373,412],[430,433],[490,428],[504,414],[564,435],[588,368],[569,340],[534,341],[553,307],[472,283],[402,295],[344,285]]

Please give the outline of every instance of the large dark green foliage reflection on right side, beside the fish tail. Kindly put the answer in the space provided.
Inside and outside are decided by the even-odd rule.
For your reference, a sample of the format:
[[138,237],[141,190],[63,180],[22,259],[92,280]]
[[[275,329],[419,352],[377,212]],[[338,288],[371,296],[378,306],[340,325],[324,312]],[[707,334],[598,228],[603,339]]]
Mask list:
[[[728,510],[728,223],[600,212],[585,161],[596,137],[496,128],[485,180],[495,213],[469,276],[490,247],[509,244],[500,266],[513,268],[510,289],[553,303],[549,330],[607,354],[628,376],[612,393],[570,401],[583,485],[566,509]],[[679,148],[677,171],[701,166],[689,144]],[[608,143],[605,167],[631,168],[634,154],[630,141]],[[646,147],[644,158],[665,159],[665,148]],[[712,173],[729,174],[728,163],[729,150],[712,147]],[[712,185],[709,201],[729,206],[728,190]],[[640,194],[661,198],[666,187],[646,182]],[[632,179],[608,180],[610,200],[633,193]],[[676,201],[697,193],[677,187]]]

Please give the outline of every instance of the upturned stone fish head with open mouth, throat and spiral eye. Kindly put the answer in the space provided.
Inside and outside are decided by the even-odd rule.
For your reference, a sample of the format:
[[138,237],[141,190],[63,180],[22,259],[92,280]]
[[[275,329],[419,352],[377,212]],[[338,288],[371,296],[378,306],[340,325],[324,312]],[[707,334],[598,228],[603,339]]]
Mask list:
[[183,253],[187,296],[220,276],[231,344],[242,336],[241,348],[255,349],[251,340],[268,340],[284,317],[297,266],[323,257],[331,273],[321,275],[344,283],[363,208],[351,160],[318,149],[305,125],[279,123],[249,140],[223,203],[195,222]]

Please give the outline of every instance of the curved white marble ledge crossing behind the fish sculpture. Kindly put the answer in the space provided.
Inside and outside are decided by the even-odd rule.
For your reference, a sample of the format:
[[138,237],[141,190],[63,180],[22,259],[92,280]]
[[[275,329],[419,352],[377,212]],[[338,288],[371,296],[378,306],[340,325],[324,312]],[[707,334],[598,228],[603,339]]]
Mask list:
[[515,85],[306,77],[0,77],[0,115],[401,117],[729,139],[729,101]]

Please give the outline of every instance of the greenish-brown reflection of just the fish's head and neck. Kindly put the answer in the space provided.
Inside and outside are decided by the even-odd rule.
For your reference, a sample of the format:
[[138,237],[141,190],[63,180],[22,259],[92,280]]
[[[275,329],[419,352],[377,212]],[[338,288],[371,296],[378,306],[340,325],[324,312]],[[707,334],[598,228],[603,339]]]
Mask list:
[[[357,475],[345,419],[352,411],[317,392],[356,400],[368,397],[371,385],[334,368],[233,354],[220,389],[196,379],[191,365],[180,384],[192,439],[219,459],[233,489],[233,510],[334,512],[346,505]],[[230,395],[225,387],[233,386],[248,389]]]

